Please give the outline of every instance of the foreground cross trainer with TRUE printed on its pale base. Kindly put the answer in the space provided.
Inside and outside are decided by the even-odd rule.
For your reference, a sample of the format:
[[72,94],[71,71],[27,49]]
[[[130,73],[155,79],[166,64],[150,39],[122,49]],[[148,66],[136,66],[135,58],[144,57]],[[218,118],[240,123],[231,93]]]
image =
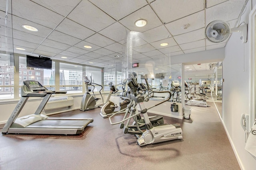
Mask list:
[[[135,78],[128,78],[128,82],[129,82],[128,86],[131,88],[131,90],[139,88],[138,83]],[[147,86],[149,89],[147,80],[146,80],[146,83],[147,83]],[[136,90],[134,90],[134,91],[136,91]],[[167,100],[170,100],[171,92],[169,92],[169,91],[166,91],[166,92],[168,92],[170,94],[169,98],[167,99]],[[119,121],[116,123],[112,123],[112,121],[111,121],[111,117],[114,116],[114,114],[113,114],[109,117],[111,125],[123,123],[124,121],[127,121],[127,120],[131,119],[132,117],[136,117],[137,115],[142,113],[143,117],[144,117],[145,125],[146,125],[146,131],[144,131],[142,133],[142,135],[137,136],[138,137],[138,140],[137,140],[138,145],[143,146],[143,145],[148,145],[148,144],[153,144],[153,143],[170,141],[170,140],[174,140],[174,139],[182,139],[182,129],[179,125],[163,124],[163,125],[153,126],[148,117],[148,113],[147,113],[148,109],[158,106],[159,104],[162,104],[162,103],[166,102],[167,100],[164,100],[154,106],[146,108],[143,103],[144,96],[134,93],[134,94],[130,94],[129,98],[130,98],[131,102],[133,102],[133,106],[136,106],[137,104],[139,104],[140,112],[134,113],[134,114],[130,115],[129,117],[124,118],[122,121]],[[133,109],[131,109],[131,111],[134,112]]]

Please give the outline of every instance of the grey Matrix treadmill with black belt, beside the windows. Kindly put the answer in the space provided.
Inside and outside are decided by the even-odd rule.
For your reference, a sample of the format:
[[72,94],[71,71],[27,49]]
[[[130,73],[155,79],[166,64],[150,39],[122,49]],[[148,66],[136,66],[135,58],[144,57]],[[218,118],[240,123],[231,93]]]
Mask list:
[[[66,94],[66,91],[48,90],[38,81],[27,80],[21,88],[21,99],[2,129],[2,134],[61,134],[75,135],[84,131],[93,122],[92,118],[48,117],[41,114],[52,94]],[[20,111],[29,97],[43,97],[36,112],[19,117]]]

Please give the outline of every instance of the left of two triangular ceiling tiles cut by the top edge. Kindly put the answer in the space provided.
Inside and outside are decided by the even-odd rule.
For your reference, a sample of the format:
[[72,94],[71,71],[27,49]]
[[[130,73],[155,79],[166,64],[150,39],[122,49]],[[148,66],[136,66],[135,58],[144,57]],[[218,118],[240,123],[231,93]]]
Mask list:
[[81,0],[32,0],[62,16],[67,16]]

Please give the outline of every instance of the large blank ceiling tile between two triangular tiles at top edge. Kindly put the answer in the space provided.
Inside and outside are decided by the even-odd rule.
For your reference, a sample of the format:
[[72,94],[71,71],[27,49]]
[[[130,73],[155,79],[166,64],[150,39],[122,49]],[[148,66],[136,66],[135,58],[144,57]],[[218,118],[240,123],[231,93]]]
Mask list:
[[80,2],[68,18],[96,32],[115,22],[113,18],[87,0]]

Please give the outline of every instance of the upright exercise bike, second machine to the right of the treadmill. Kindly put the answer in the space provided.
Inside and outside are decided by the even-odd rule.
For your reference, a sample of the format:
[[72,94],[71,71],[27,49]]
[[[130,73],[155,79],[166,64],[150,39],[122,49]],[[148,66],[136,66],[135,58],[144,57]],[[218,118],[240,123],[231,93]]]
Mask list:
[[112,94],[118,92],[118,89],[115,88],[115,86],[110,82],[109,84],[110,92],[108,94],[107,102],[102,106],[100,110],[100,115],[103,118],[107,118],[108,115],[112,115],[113,113],[123,113],[126,110],[127,105],[130,103],[129,99],[123,99],[123,102],[119,102],[120,109],[118,111],[114,111],[118,106],[110,101],[110,97]]

